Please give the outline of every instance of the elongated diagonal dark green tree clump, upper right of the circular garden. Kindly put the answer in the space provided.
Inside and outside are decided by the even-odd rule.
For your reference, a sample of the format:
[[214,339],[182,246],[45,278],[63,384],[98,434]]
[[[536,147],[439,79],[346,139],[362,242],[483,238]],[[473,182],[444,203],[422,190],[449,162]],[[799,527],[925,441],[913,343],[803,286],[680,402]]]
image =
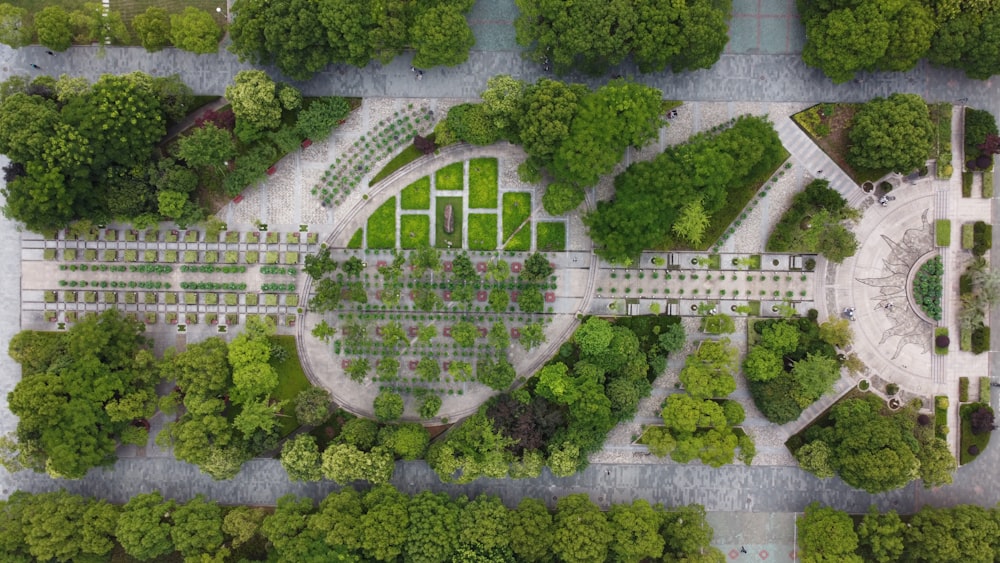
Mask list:
[[[763,118],[740,117],[717,134],[700,134],[637,162],[615,178],[615,199],[598,203],[584,218],[597,253],[612,262],[670,242],[671,226],[685,205],[701,200],[711,217],[732,192],[773,171],[784,158],[781,141]],[[714,241],[706,241],[711,243]]]

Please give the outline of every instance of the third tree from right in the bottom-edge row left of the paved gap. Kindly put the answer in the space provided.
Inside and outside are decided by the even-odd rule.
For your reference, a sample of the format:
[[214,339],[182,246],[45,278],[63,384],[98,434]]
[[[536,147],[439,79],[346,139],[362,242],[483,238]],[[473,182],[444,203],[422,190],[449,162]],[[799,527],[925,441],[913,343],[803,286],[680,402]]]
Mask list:
[[556,502],[551,549],[563,561],[604,561],[611,536],[607,517],[587,495],[567,495]]

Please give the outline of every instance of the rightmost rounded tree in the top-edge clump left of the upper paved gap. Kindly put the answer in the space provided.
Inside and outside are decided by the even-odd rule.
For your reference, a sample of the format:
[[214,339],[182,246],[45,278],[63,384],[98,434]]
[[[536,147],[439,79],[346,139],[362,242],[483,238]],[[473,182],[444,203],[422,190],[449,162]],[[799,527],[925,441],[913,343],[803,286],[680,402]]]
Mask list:
[[455,66],[469,58],[476,44],[465,16],[457,5],[441,4],[423,11],[411,29],[417,67]]

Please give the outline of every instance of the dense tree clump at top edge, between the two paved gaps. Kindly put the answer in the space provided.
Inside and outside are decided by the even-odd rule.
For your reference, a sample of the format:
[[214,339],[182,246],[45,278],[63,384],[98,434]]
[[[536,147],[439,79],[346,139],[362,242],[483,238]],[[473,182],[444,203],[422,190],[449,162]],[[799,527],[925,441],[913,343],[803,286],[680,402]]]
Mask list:
[[632,55],[642,72],[709,68],[728,41],[730,3],[517,0],[517,41],[557,74],[602,74]]

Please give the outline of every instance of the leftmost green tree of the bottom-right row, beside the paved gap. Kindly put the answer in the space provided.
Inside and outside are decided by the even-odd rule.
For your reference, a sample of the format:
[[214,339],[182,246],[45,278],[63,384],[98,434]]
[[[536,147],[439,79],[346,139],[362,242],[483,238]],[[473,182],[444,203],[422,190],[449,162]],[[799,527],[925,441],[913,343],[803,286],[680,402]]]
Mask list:
[[854,522],[846,512],[821,507],[814,502],[795,521],[799,536],[799,556],[807,563],[819,561],[849,561],[861,563],[855,551],[858,535]]

